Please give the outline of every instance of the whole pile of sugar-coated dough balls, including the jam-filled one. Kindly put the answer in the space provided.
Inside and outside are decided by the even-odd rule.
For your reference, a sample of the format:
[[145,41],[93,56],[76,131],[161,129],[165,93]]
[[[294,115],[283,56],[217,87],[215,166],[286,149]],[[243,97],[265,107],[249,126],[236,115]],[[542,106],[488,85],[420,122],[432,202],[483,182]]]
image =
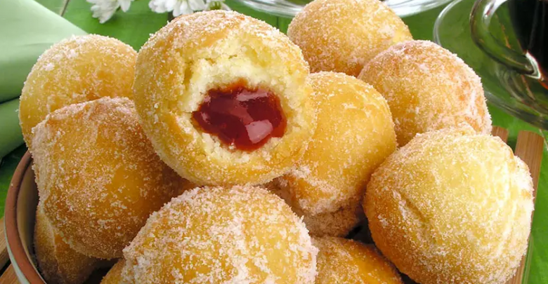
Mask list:
[[[110,260],[103,283],[495,284],[526,251],[530,174],[478,76],[377,0],[313,1],[288,36],[209,11],[138,53],[63,41],[20,121],[48,283]],[[365,217],[374,244],[345,239]]]

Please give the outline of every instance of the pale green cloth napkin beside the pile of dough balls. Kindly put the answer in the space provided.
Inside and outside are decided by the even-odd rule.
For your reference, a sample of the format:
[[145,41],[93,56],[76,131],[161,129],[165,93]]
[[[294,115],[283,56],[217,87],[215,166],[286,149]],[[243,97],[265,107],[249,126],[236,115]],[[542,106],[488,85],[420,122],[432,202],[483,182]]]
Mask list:
[[[0,8],[0,158],[22,144],[17,98],[32,65],[53,43],[83,30],[33,0]],[[14,100],[15,99],[15,100]]]

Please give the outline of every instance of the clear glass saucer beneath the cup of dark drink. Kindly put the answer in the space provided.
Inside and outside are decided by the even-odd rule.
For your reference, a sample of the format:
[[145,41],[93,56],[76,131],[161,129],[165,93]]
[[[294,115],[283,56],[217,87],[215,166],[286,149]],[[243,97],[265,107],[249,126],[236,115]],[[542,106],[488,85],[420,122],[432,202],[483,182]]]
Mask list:
[[[534,126],[548,129],[548,97],[538,81],[502,65],[478,48],[470,32],[474,0],[457,0],[438,15],[433,40],[456,53],[481,77],[485,97],[495,106]],[[521,50],[509,20],[507,4],[492,18],[489,32],[509,48]]]

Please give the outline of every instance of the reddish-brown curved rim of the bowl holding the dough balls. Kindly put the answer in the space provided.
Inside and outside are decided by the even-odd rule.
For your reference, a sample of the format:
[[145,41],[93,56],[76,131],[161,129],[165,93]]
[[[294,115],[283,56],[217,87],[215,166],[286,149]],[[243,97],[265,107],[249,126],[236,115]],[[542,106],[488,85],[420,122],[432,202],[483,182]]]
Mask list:
[[23,177],[25,177],[25,173],[31,163],[32,158],[30,152],[27,151],[21,158],[21,161],[15,169],[15,173],[13,173],[13,177],[11,178],[8,195],[6,196],[6,207],[4,209],[4,226],[6,226],[6,241],[8,243],[8,248],[11,250],[11,261],[15,262],[15,266],[18,266],[29,283],[46,284],[36,269],[34,269],[34,264],[32,264],[25,253],[17,224],[17,200],[19,191]]

